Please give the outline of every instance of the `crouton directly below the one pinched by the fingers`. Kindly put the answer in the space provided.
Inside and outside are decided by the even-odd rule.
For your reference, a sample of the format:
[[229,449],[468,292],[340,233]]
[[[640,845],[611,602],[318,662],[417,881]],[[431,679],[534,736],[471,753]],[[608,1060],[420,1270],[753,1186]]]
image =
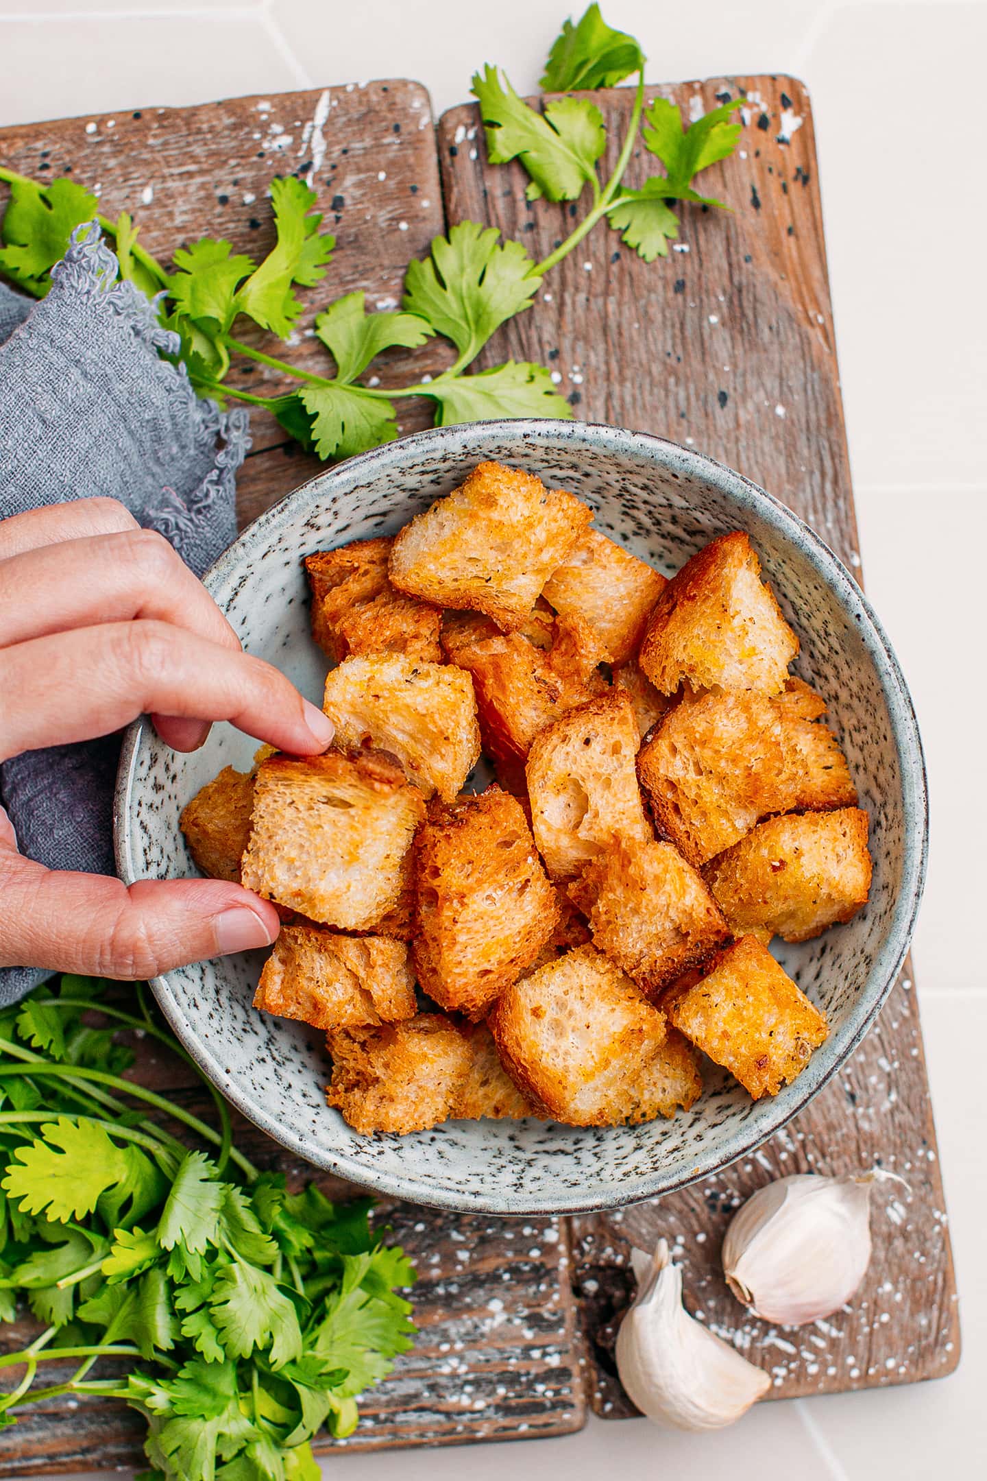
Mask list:
[[253,1006],[326,1029],[414,1017],[408,948],[386,936],[283,926]]

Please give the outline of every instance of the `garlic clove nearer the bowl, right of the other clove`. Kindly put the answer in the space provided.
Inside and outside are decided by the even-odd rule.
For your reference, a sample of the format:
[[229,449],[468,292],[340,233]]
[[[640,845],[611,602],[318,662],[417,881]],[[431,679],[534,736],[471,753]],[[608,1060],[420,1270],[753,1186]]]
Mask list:
[[724,1275],[755,1317],[802,1327],[845,1306],[870,1263],[875,1173],[793,1173],[747,1200],[724,1240]]

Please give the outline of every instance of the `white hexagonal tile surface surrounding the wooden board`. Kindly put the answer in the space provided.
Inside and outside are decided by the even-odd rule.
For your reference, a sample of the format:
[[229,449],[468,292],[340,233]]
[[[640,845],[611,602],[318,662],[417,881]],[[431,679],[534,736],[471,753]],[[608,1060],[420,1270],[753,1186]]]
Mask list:
[[[503,64],[536,86],[582,0],[0,0],[0,124],[249,92],[414,77],[437,114]],[[897,1391],[778,1403],[734,1431],[592,1422],[558,1441],[333,1457],[337,1481],[494,1481],[565,1468],[695,1481],[928,1481],[987,1474],[987,983],[983,782],[987,551],[987,0],[605,0],[653,81],[787,71],[814,98],[867,588],[922,721],[932,788],[916,936],[965,1358]],[[195,1481],[195,1478],[188,1478]]]

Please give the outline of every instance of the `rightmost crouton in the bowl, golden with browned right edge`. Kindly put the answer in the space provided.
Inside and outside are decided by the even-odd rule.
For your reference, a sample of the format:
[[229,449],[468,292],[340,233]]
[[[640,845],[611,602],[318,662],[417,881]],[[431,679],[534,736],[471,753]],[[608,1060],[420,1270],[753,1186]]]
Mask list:
[[759,823],[703,874],[735,936],[808,940],[852,920],[870,890],[867,813],[790,813]]

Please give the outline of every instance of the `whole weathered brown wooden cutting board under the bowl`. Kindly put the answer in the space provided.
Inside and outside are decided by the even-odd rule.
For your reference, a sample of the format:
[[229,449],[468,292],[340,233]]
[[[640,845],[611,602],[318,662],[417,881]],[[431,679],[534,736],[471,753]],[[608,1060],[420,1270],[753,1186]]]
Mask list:
[[[721,458],[783,498],[858,567],[805,90],[790,78],[747,77],[653,93],[688,110],[694,98],[709,108],[738,90],[747,96],[746,129],[740,153],[716,167],[715,187],[735,215],[687,209],[676,250],[653,265],[613,233],[595,233],[546,280],[534,308],[500,330],[485,363],[540,360],[556,370],[577,416],[660,432]],[[596,101],[616,139],[629,93]],[[0,160],[38,178],[71,170],[80,182],[98,181],[104,213],[132,210],[142,240],[161,256],[206,233],[263,253],[272,241],[263,206],[271,176],[311,172],[339,243],[326,283],[302,292],[306,315],[289,351],[312,367],[321,350],[305,330],[323,301],[363,289],[370,305],[392,307],[408,258],[444,222],[491,222],[534,256],[570,222],[565,206],[525,201],[519,169],[485,163],[472,107],[444,116],[437,150],[428,95],[407,81],[25,124],[0,130]],[[647,163],[635,157],[630,184]],[[259,335],[255,342],[277,352]],[[410,363],[420,375],[450,360],[431,342],[402,354],[401,379]],[[262,366],[244,367],[238,384],[280,388]],[[420,409],[404,407],[402,416],[404,431],[423,425]],[[286,444],[272,419],[255,416],[252,429],[255,449],[238,481],[241,523],[318,468]],[[146,1056],[135,1074],[164,1083]],[[303,1174],[252,1127],[243,1124],[241,1134],[255,1160]],[[875,1259],[852,1311],[796,1333],[744,1321],[718,1275],[732,1208],[778,1173],[876,1163],[910,1189],[875,1200]],[[657,1234],[678,1246],[690,1308],[772,1371],[774,1397],[913,1382],[949,1373],[959,1360],[909,977],[845,1072],[786,1131],[719,1177],[661,1203],[562,1222],[410,1206],[382,1206],[379,1217],[417,1260],[422,1336],[363,1405],[349,1448],[562,1434],[583,1423],[587,1391],[599,1413],[633,1413],[614,1377],[613,1323],[629,1299],[627,1251]],[[139,1432],[135,1416],[111,1405],[38,1407],[0,1435],[0,1475],[133,1463]]]

